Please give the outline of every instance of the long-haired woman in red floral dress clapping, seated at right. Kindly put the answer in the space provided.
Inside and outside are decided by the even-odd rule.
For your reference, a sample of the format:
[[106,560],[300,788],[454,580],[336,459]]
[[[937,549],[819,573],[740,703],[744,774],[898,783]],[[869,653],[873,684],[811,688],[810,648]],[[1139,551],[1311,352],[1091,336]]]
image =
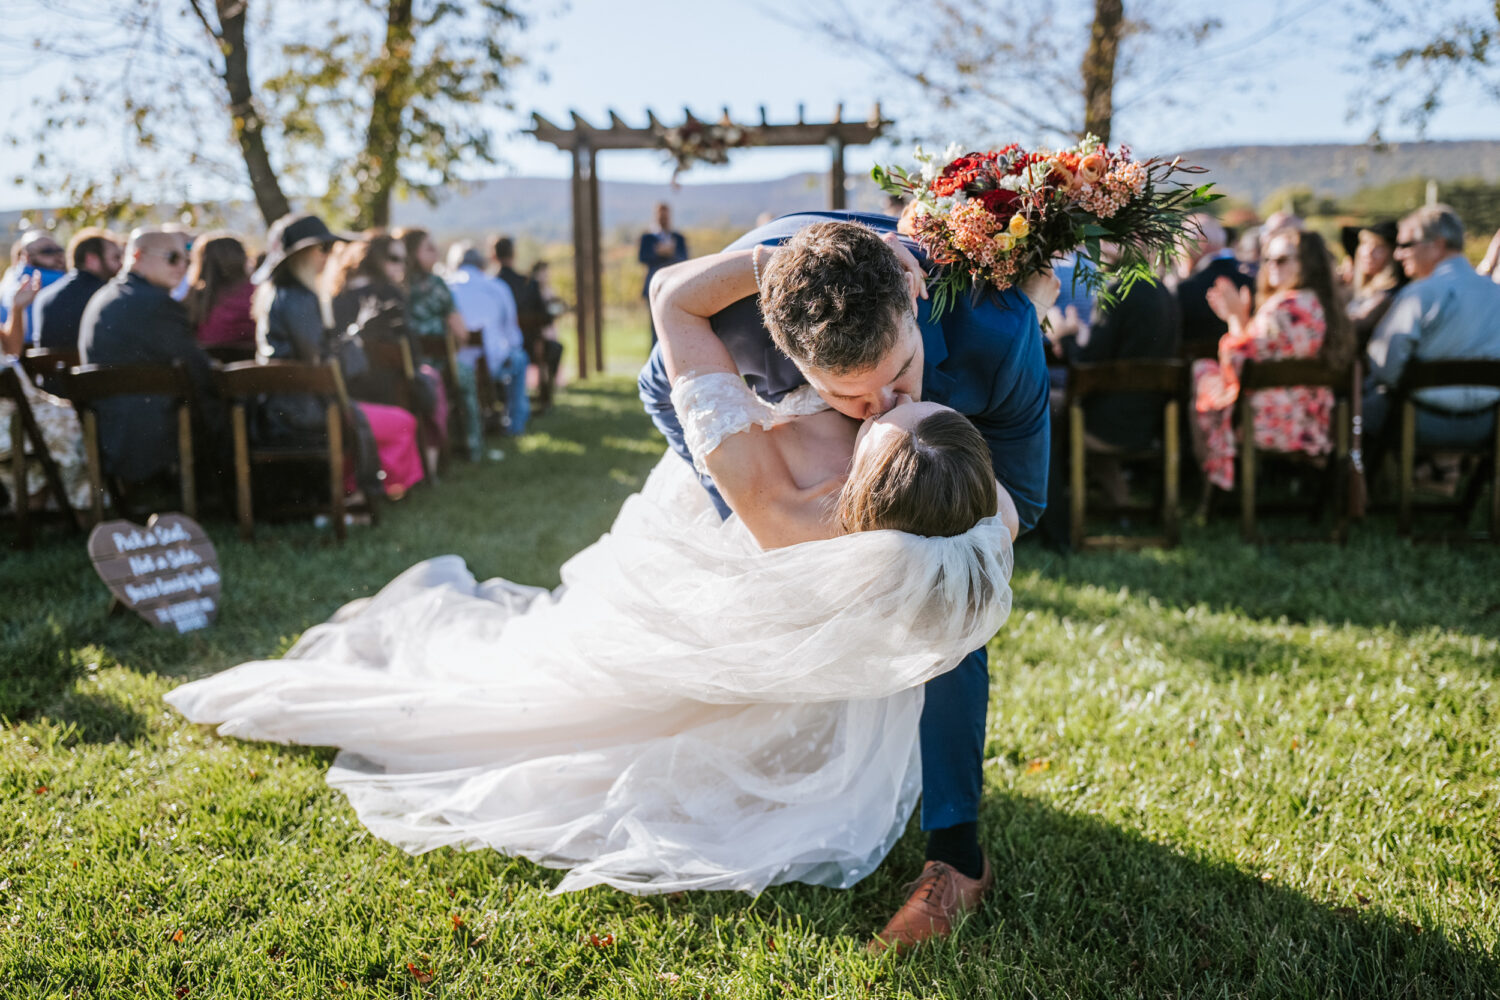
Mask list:
[[[1210,486],[1234,487],[1234,411],[1239,369],[1246,360],[1323,358],[1334,367],[1353,357],[1353,333],[1338,300],[1334,259],[1316,232],[1287,229],[1266,243],[1260,267],[1260,307],[1251,316],[1250,289],[1228,277],[1208,301],[1228,325],[1218,360],[1192,364],[1194,451]],[[1334,391],[1268,388],[1252,400],[1256,447],[1323,456],[1332,450]],[[1203,492],[1208,502],[1209,490]]]

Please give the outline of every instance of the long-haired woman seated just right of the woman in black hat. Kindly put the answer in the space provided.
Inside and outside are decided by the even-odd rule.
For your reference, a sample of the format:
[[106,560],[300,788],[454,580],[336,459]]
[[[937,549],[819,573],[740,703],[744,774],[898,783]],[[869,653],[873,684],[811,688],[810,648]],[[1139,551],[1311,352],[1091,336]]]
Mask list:
[[[442,376],[422,354],[406,324],[406,244],[382,229],[372,229],[346,243],[322,271],[333,301],[333,328],[357,331],[364,343],[405,343],[416,363],[416,414],[424,421],[430,441],[448,436],[448,400]],[[363,375],[345,379],[350,396],[362,402],[399,406],[404,372],[370,366]],[[438,445],[430,447],[428,469],[436,469]]]

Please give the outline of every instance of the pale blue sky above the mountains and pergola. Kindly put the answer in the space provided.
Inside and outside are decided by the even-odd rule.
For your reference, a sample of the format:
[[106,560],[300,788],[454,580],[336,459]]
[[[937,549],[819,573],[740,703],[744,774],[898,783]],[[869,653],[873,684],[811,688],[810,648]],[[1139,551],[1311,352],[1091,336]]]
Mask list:
[[[87,0],[106,3],[106,0]],[[105,7],[106,9],[106,7]],[[1268,18],[1294,18],[1276,37],[1244,51],[1220,46],[1222,76],[1203,106],[1162,112],[1149,118],[1124,117],[1116,133],[1144,153],[1194,145],[1257,142],[1358,142],[1368,126],[1346,120],[1348,94],[1358,76],[1348,72],[1353,57],[1338,39],[1352,33],[1348,15],[1336,3],[1220,3],[1206,4],[1227,22],[1226,37],[1252,34]],[[914,7],[920,10],[920,7]],[[578,111],[594,123],[614,108],[627,121],[644,124],[645,109],[663,120],[680,120],[684,106],[717,117],[724,105],[740,120],[756,120],[765,105],[772,121],[795,118],[798,103],[808,118],[826,117],[840,100],[844,114],[862,117],[876,99],[900,106],[908,90],[882,78],[855,54],[840,51],[818,33],[796,25],[802,4],[795,0],[572,0],[562,13],[537,16],[525,34],[538,78],[524,72],[512,97],[522,111],[540,111],[566,121]],[[15,25],[12,25],[15,27]],[[1332,40],[1332,45],[1329,45]],[[36,64],[36,57],[12,42],[0,45],[0,82],[10,108],[24,108],[33,96],[50,93],[66,76],[66,66]],[[909,97],[908,97],[909,99]],[[1500,115],[1479,115],[1476,102],[1460,96],[1432,123],[1431,138],[1496,138]],[[500,117],[508,132],[500,144],[502,172],[566,175],[568,159],[530,136],[514,135],[520,115]],[[1028,139],[1030,136],[1017,136]],[[1388,138],[1412,138],[1388,132]],[[6,150],[4,157],[30,159],[33,150]],[[891,150],[852,151],[852,169],[866,168]],[[9,163],[8,163],[9,165]],[[801,169],[825,169],[822,150],[752,150],[726,168],[700,168],[684,183],[778,177]],[[12,171],[4,171],[9,174]],[[600,174],[615,180],[660,181],[670,169],[658,153],[609,153]],[[0,208],[32,202],[6,184]]]

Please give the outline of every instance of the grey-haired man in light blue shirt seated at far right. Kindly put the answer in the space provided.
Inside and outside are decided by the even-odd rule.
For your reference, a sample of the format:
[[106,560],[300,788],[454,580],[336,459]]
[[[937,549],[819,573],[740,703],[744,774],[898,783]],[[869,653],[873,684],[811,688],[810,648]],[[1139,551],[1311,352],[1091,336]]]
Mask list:
[[[1464,223],[1448,205],[1418,208],[1401,219],[1396,259],[1412,283],[1392,301],[1370,339],[1365,436],[1380,444],[1390,390],[1407,361],[1500,358],[1500,285],[1464,259]],[[1437,387],[1416,393],[1416,439],[1424,447],[1470,448],[1496,432],[1497,391]],[[1370,468],[1376,465],[1371,454]]]

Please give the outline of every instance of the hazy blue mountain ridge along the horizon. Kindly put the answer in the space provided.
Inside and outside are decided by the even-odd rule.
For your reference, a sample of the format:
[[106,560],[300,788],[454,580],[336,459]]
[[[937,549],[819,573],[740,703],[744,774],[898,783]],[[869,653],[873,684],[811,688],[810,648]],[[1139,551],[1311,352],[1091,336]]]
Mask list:
[[[1208,168],[1206,180],[1218,190],[1260,204],[1288,186],[1311,187],[1317,195],[1346,196],[1413,177],[1443,181],[1500,181],[1500,141],[1392,142],[1372,145],[1221,145],[1182,151],[1184,160]],[[762,214],[782,216],[828,207],[828,175],[792,174],[777,180],[723,184],[600,181],[600,226],[606,240],[636,232],[651,223],[658,201],[672,204],[680,228],[748,229]],[[884,193],[867,175],[850,177],[850,208],[880,211]],[[392,207],[393,225],[423,226],[440,243],[492,232],[525,235],[543,243],[572,240],[568,180],[501,177],[456,187],[436,205],[402,201]],[[45,213],[0,213],[0,234],[15,232],[20,219]],[[250,205],[225,205],[237,228],[260,235]],[[0,237],[3,238],[3,237]]]

